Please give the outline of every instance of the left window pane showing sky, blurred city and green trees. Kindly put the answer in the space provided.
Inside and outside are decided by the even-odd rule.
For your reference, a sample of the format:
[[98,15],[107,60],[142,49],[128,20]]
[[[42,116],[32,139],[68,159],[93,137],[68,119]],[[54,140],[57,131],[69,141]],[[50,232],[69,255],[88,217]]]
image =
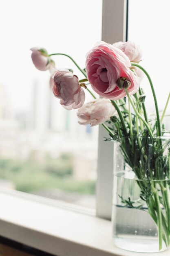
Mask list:
[[[62,108],[49,89],[49,72],[36,70],[29,49],[68,54],[84,68],[86,53],[101,40],[102,0],[0,5],[0,184],[95,207],[97,127],[79,125],[77,110]],[[53,60],[84,78],[69,58]]]

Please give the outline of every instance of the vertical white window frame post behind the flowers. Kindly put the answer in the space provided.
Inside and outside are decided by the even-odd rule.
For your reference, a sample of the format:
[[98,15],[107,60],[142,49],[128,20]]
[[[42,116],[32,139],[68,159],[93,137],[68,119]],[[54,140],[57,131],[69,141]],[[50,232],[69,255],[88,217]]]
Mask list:
[[[127,40],[128,0],[103,0],[102,40],[115,43]],[[109,137],[106,130],[99,127],[96,215],[111,218],[113,190],[113,142],[104,141]]]

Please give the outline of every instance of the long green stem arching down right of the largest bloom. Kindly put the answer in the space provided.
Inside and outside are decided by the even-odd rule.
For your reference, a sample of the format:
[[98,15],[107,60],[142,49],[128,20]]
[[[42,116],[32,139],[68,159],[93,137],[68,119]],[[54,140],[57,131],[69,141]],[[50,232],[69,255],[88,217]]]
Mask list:
[[157,126],[158,136],[161,136],[161,123],[160,123],[160,119],[159,119],[159,110],[158,110],[157,98],[156,98],[156,94],[155,94],[155,90],[154,90],[154,87],[153,87],[152,80],[151,80],[148,72],[143,67],[141,67],[141,65],[139,65],[137,63],[134,63],[134,62],[131,62],[131,64],[132,64],[132,66],[139,67],[146,74],[146,76],[148,77],[150,87],[151,87],[151,90],[152,90],[152,94],[153,94],[153,98],[154,98],[154,101],[155,101],[155,109],[156,109],[157,124],[158,124],[158,126]]

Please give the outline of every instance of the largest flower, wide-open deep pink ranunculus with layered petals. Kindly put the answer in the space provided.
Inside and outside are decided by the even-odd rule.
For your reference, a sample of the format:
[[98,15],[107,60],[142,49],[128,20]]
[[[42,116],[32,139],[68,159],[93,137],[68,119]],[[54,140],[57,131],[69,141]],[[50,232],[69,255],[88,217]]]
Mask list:
[[130,95],[139,90],[141,79],[131,70],[131,63],[120,49],[105,42],[100,42],[86,56],[88,81],[95,92],[103,98],[112,100],[126,96],[123,88],[117,86],[121,77],[130,81],[127,88]]

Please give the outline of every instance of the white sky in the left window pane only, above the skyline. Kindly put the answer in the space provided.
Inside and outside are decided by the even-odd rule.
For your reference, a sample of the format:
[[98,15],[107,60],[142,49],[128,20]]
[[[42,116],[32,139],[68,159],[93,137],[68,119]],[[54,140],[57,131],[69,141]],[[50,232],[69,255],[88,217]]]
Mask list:
[[[48,71],[34,67],[29,49],[40,45],[50,54],[70,54],[84,68],[86,53],[101,40],[102,0],[0,1],[0,24],[0,85],[14,109],[28,109],[34,79],[49,80]],[[68,58],[53,59],[56,67],[84,78]]]

